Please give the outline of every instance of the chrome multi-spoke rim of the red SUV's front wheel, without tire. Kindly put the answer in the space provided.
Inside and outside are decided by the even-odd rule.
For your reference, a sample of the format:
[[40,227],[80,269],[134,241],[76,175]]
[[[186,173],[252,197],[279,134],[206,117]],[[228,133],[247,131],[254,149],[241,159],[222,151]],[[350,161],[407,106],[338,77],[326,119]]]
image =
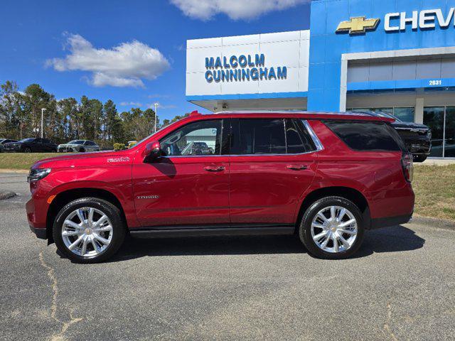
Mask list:
[[102,211],[81,207],[63,222],[62,239],[73,254],[87,258],[97,256],[112,240],[112,224]]

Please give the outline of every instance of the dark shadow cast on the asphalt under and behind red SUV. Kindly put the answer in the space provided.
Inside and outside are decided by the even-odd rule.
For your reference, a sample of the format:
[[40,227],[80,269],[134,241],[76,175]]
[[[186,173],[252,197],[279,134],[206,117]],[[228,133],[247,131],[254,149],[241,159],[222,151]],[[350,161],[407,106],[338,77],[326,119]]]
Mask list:
[[[353,258],[374,253],[412,251],[424,246],[425,239],[402,226],[368,231]],[[144,256],[205,256],[229,254],[303,254],[305,247],[296,236],[185,237],[134,239],[128,237],[110,262]]]

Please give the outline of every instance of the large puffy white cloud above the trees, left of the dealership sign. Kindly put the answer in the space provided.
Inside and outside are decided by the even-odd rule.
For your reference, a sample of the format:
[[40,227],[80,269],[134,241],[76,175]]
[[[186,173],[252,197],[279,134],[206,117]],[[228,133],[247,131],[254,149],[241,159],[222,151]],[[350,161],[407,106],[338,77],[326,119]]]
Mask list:
[[46,61],[55,70],[92,72],[95,87],[144,87],[142,80],[154,80],[169,68],[164,55],[149,45],[133,40],[110,49],[94,48],[78,34],[68,35],[70,53],[65,58]]

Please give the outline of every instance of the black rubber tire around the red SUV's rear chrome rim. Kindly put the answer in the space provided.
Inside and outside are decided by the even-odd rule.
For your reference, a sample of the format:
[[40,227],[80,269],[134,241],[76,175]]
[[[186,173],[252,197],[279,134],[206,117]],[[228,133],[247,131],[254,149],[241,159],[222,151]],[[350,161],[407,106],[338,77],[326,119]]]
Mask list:
[[[314,220],[314,217],[319,211],[323,210],[323,208],[330,206],[346,208],[352,213],[357,221],[357,237],[351,247],[346,251],[340,251],[338,253],[324,251],[316,245],[316,242],[314,242],[313,237],[311,236],[311,222]],[[353,202],[345,199],[344,197],[322,197],[311,204],[311,206],[304,213],[299,226],[299,237],[311,256],[321,259],[346,259],[352,256],[362,244],[365,232],[364,226],[365,224],[363,222],[362,213]],[[333,241],[331,243],[333,244]]]

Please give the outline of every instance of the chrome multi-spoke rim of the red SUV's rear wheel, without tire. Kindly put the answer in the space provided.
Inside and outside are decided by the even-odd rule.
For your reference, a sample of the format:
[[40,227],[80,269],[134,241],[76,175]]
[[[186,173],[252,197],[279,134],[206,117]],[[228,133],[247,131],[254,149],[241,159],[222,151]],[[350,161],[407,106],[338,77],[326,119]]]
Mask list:
[[344,207],[320,210],[311,222],[311,237],[319,249],[336,254],[353,246],[357,238],[357,220]]

